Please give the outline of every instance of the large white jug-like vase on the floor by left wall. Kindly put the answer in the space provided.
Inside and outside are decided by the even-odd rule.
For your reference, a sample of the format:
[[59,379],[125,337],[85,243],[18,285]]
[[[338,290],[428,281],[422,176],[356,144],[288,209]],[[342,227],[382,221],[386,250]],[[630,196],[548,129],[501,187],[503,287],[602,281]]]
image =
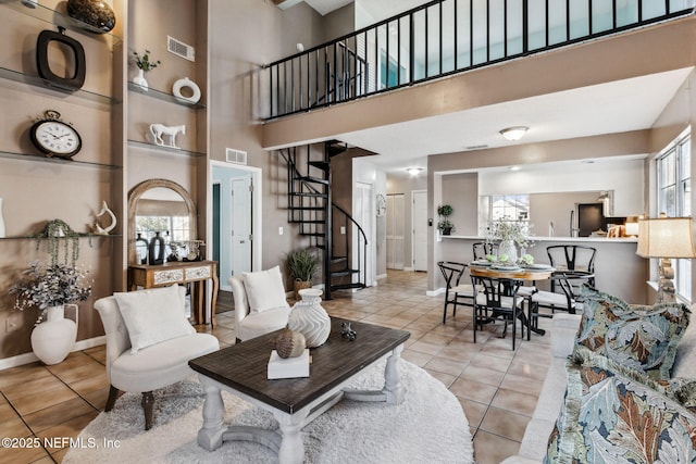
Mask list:
[[[75,309],[75,321],[65,318],[65,306]],[[78,315],[77,304],[48,308],[46,321],[32,331],[32,349],[44,364],[58,364],[71,352],[77,339]]]

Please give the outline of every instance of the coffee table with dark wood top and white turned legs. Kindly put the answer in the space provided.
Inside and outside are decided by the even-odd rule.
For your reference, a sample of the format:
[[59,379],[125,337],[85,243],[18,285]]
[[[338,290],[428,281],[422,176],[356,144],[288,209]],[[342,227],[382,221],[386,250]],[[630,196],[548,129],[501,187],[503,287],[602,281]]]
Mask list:
[[[358,334],[355,341],[340,336],[344,322],[349,322]],[[271,340],[276,334],[257,337],[189,361],[206,389],[203,426],[198,431],[198,444],[202,448],[212,451],[227,440],[253,441],[277,452],[281,464],[299,464],[304,460],[300,430],[341,399],[389,404],[403,401],[398,360],[403,342],[410,337],[408,331],[332,317],[328,340],[310,350],[310,376],[269,380],[266,366]],[[387,358],[387,364],[382,390],[345,388],[356,376],[384,358]],[[271,412],[278,421],[279,432],[260,427],[225,426],[221,390]]]

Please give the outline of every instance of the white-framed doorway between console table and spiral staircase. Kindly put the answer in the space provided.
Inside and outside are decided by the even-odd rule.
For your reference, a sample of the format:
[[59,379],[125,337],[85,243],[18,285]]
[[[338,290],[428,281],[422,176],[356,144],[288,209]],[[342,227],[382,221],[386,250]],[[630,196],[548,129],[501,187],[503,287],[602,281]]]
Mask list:
[[261,170],[211,162],[208,242],[217,261],[220,289],[232,291],[233,275],[261,268]]

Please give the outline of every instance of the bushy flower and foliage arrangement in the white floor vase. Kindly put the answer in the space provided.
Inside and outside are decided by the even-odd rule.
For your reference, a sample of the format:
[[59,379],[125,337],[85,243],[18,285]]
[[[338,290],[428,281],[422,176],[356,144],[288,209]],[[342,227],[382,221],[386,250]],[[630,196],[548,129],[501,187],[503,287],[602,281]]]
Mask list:
[[22,274],[25,277],[10,288],[10,293],[16,294],[15,309],[41,311],[37,324],[48,308],[85,301],[91,294],[91,285],[83,285],[88,272],[67,264],[35,261]]

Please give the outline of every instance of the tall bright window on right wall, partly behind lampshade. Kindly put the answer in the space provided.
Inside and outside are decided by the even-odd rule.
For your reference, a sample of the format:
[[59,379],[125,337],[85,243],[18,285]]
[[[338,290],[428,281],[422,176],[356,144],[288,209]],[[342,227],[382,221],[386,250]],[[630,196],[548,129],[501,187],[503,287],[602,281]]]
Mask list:
[[[692,140],[687,130],[657,159],[658,212],[669,217],[692,215]],[[674,286],[676,293],[692,299],[691,260],[674,260]]]

